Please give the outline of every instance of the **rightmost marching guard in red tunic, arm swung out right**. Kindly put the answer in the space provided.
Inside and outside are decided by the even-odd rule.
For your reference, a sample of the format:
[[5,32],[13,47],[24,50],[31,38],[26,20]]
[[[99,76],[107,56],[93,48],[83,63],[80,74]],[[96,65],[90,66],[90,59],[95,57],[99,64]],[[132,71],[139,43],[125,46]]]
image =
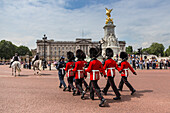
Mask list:
[[122,59],[121,67],[119,68],[119,73],[121,73],[121,81],[119,83],[119,90],[122,91],[123,84],[125,83],[126,86],[131,90],[131,95],[136,91],[131,84],[127,81],[127,77],[129,75],[128,69],[132,71],[134,75],[137,75],[137,73],[133,70],[133,68],[130,66],[130,64],[127,62],[128,60],[128,54],[126,52],[120,53],[120,58]]

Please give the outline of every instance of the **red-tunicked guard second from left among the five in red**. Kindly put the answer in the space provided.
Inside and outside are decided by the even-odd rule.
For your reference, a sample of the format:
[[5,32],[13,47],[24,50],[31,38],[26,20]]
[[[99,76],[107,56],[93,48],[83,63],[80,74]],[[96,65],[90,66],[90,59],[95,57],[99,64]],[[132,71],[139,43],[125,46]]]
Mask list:
[[78,58],[77,62],[75,63],[75,67],[72,71],[75,72],[75,84],[78,89],[78,92],[82,94],[81,99],[84,99],[85,91],[82,88],[82,82],[84,80],[84,61],[83,58],[83,51],[81,49],[78,49],[76,51],[76,57]]

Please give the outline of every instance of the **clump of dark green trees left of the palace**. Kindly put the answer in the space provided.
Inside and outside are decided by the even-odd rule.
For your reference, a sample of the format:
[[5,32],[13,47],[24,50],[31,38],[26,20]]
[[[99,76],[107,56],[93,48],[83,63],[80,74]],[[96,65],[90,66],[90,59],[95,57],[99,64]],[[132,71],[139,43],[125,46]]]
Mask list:
[[0,41],[0,57],[5,59],[10,59],[12,56],[18,53],[21,56],[26,54],[32,55],[31,51],[26,46],[19,46],[12,44],[10,41],[1,40]]

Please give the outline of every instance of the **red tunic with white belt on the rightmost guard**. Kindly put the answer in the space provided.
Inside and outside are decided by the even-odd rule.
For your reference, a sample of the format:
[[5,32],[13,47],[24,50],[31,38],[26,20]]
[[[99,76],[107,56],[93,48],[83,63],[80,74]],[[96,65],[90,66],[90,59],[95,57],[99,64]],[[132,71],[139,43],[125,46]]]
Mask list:
[[119,71],[122,71],[121,76],[126,76],[128,77],[128,69],[130,69],[133,73],[135,72],[133,68],[130,66],[129,62],[124,61],[121,63],[121,67],[118,68]]

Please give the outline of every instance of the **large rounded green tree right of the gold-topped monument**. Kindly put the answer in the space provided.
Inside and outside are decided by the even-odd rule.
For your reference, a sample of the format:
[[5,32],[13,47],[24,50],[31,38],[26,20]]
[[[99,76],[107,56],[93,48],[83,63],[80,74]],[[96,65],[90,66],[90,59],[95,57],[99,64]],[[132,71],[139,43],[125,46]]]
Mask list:
[[149,47],[149,52],[150,54],[154,54],[154,55],[164,55],[164,49],[165,47],[163,46],[163,44],[159,44],[159,43],[152,43],[152,45]]

